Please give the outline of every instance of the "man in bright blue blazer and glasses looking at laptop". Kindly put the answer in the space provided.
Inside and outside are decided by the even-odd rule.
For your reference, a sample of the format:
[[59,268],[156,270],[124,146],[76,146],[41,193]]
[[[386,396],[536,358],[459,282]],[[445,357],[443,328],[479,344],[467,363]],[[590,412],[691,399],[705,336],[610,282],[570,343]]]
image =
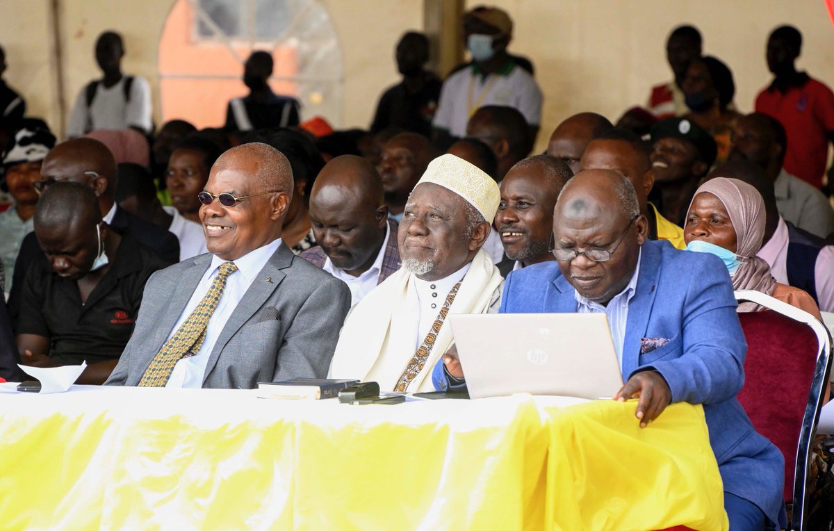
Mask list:
[[[506,279],[501,313],[605,313],[625,385],[646,427],[669,403],[701,403],[724,482],[730,528],[762,529],[781,509],[783,458],[753,428],[736,393],[746,342],[723,263],[650,241],[634,188],[590,170],[565,186],[554,213],[556,262]],[[455,353],[435,366],[435,387],[465,385]]]

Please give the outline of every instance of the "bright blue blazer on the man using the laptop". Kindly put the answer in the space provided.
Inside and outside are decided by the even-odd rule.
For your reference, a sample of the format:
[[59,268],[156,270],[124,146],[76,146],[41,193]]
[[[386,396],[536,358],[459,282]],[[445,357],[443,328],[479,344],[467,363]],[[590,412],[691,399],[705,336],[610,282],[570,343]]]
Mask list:
[[[510,273],[499,312],[574,313],[574,293],[557,263],[536,264]],[[642,338],[668,342],[641,353]],[[666,378],[672,402],[703,404],[724,490],[756,503],[777,522],[784,459],[756,433],[736,400],[744,383],[746,349],[731,279],[721,260],[646,241],[625,324],[624,379],[651,368]],[[442,360],[433,377],[436,388],[450,386]]]

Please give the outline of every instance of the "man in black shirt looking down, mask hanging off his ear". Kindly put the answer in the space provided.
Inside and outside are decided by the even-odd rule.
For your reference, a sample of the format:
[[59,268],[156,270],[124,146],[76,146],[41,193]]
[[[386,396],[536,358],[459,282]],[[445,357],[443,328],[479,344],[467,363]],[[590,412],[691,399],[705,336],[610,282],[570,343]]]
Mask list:
[[77,383],[103,383],[133,333],[145,283],[168,264],[104,223],[98,198],[82,183],[47,188],[34,220],[47,259],[34,261],[23,281],[16,330],[21,363],[86,361]]

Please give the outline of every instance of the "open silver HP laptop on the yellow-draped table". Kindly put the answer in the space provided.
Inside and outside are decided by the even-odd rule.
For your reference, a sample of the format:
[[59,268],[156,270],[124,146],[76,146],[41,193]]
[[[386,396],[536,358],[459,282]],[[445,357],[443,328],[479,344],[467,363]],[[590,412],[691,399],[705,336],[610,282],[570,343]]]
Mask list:
[[605,313],[450,315],[470,398],[610,398],[622,387]]

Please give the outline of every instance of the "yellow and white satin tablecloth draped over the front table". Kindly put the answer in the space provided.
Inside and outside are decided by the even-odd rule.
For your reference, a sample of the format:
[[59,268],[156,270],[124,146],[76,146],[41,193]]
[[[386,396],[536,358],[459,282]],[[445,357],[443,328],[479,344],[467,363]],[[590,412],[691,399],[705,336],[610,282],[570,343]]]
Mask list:
[[700,407],[565,403],[0,394],[0,528],[726,528]]

